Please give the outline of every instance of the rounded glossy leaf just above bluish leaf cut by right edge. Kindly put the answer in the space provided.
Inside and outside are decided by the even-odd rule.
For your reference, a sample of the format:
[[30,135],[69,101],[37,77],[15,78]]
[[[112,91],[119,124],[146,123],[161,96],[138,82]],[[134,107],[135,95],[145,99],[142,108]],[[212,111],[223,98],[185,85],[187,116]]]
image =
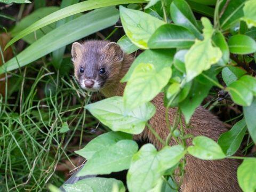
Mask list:
[[252,92],[241,81],[235,81],[226,87],[232,100],[241,106],[250,106],[253,99]]

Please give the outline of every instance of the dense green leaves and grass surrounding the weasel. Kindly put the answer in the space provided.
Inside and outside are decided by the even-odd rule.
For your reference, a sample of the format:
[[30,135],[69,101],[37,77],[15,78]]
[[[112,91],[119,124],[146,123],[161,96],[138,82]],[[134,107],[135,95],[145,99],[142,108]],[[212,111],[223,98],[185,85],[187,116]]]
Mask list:
[[[66,142],[64,147],[62,146],[65,134],[70,134],[70,130],[73,131],[71,134],[75,134],[81,121],[84,125],[85,111],[89,110],[102,123],[102,126],[106,126],[105,129],[111,131],[99,135],[84,148],[76,151],[76,154],[87,159],[82,170],[78,172],[79,176],[128,170],[126,182],[129,191],[178,191],[181,183],[175,183],[174,170],[179,170],[181,178],[186,174],[185,155],[192,155],[205,161],[240,158],[243,159],[243,163],[237,170],[239,186],[243,191],[255,191],[256,182],[253,181],[256,180],[256,157],[254,157],[255,153],[250,154],[249,157],[249,150],[256,143],[256,78],[254,77],[256,74],[256,1],[87,0],[78,2],[63,0],[62,9],[59,7],[38,9],[22,19],[11,30],[13,38],[6,45],[5,50],[21,38],[30,45],[11,60],[3,61],[0,74],[5,74],[6,85],[7,76],[10,74],[18,76],[17,71],[13,73],[13,70],[21,70],[21,67],[47,54],[51,57],[49,65],[58,71],[58,77],[56,77],[57,80],[47,79],[49,86],[56,88],[49,89],[42,105],[40,102],[36,106],[33,104],[36,84],[29,94],[22,95],[21,92],[20,102],[23,106],[20,106],[20,114],[8,113],[13,109],[8,105],[6,91],[5,98],[0,98],[3,103],[0,106],[0,124],[3,130],[1,137],[9,135],[15,144],[22,139],[33,142],[35,146],[31,148],[31,153],[42,153],[42,156],[37,158],[43,158],[44,151],[50,150],[53,139],[56,155],[53,156],[51,169],[49,168],[47,173],[54,172],[54,166],[57,166],[62,153],[66,153],[65,148],[69,143]],[[114,7],[114,5],[119,6]],[[47,11],[40,12],[42,9]],[[81,14],[89,10],[93,11]],[[38,20],[36,15],[43,18]],[[133,53],[139,49],[145,51],[134,60],[130,70],[122,79],[122,82],[127,82],[123,97],[112,97],[87,104],[90,97],[74,85],[73,81],[67,82],[63,78],[61,82],[58,81],[62,71],[61,66],[65,62],[63,57],[65,46],[115,25],[119,17],[125,35],[119,39],[118,44],[126,53]],[[56,22],[55,25],[53,25],[54,22]],[[1,54],[4,58],[3,52]],[[40,65],[46,65],[44,59],[42,61]],[[47,71],[46,66],[35,71],[35,74],[38,74],[33,80],[39,82],[44,76],[52,75],[50,72],[46,74],[45,71]],[[25,72],[20,73],[19,76],[25,76],[26,69]],[[22,81],[22,78],[19,79]],[[64,92],[65,89],[67,90]],[[78,114],[79,118],[75,115],[77,107],[73,106],[69,109],[68,105],[65,109],[62,108],[65,102],[70,102],[71,105],[69,93],[72,91],[78,96],[85,97],[84,101],[79,98],[78,106],[82,106],[80,109],[84,111],[82,115]],[[166,110],[170,107],[178,108],[175,116],[177,121],[171,125],[166,122],[170,133],[165,141],[148,123],[156,110],[150,101],[159,92],[165,94]],[[194,137],[185,134],[184,129],[188,129],[190,118],[199,105],[204,103],[207,109],[213,110],[223,105],[223,100],[226,100],[225,104],[228,107],[239,112],[236,115],[230,112],[227,122],[232,122],[233,126],[228,132],[220,135],[218,142],[204,136]],[[15,104],[17,107],[17,103]],[[43,110],[45,106],[48,109]],[[33,107],[38,109],[36,115],[29,112]],[[66,116],[67,112],[71,112],[71,115]],[[41,119],[39,125],[31,116]],[[182,127],[181,116],[185,119],[186,127]],[[86,118],[88,117],[86,114]],[[15,124],[17,129],[10,129],[12,124]],[[46,131],[40,129],[42,124]],[[180,124],[181,127],[178,128]],[[34,129],[27,133],[30,126]],[[53,132],[54,129],[57,129],[57,132]],[[139,134],[144,129],[150,129],[159,142],[163,143],[164,147],[161,150],[157,150],[149,143],[139,148],[138,144],[132,140],[132,134]],[[26,138],[17,139],[17,134],[20,132],[25,132]],[[36,140],[34,138],[39,132],[46,137],[42,138],[45,139],[43,146],[38,143],[40,138]],[[177,139],[179,145],[169,146],[171,137]],[[192,146],[186,144],[189,138],[193,138]],[[10,153],[12,143],[3,139],[0,142],[2,154]],[[237,157],[234,154],[241,144],[243,156]],[[23,153],[25,149],[17,146],[19,148],[15,149],[18,150],[17,153],[26,159]],[[68,155],[66,157],[69,158]],[[5,155],[5,158],[2,158],[0,166],[5,161],[11,162],[8,159],[11,158],[10,155]],[[28,161],[26,163],[30,170],[34,169]],[[5,162],[5,166],[7,170],[8,166],[12,165]],[[45,169],[44,166],[42,161],[42,169]],[[19,172],[19,170],[16,171]],[[6,175],[3,177],[7,180]],[[15,180],[13,175],[11,177]],[[51,174],[48,178],[50,177]],[[48,178],[45,178],[44,182],[47,182]],[[34,185],[37,185],[34,175],[33,179]],[[182,179],[180,181],[182,182]],[[14,188],[18,188],[16,184]],[[63,188],[66,191],[81,189],[125,191],[122,181],[110,178],[87,178],[75,184],[67,184]],[[37,190],[39,189],[40,187]],[[57,189],[52,187],[52,190]]]

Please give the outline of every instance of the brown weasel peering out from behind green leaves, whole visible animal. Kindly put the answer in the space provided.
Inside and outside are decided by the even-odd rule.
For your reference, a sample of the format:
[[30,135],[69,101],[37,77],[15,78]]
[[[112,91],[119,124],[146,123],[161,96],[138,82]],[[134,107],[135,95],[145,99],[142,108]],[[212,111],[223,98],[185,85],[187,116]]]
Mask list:
[[[99,91],[105,97],[122,96],[125,84],[121,78],[131,66],[134,57],[125,54],[121,47],[108,41],[87,41],[82,44],[75,42],[72,46],[75,77],[79,85],[88,91]],[[149,124],[165,140],[169,134],[166,127],[163,93],[159,93],[152,101],[156,113]],[[169,120],[172,123],[177,109],[170,108]],[[228,131],[221,121],[210,111],[198,107],[190,120],[191,129],[185,129],[187,134],[205,135],[217,141],[221,133]],[[148,139],[157,149],[163,146],[148,129],[135,138]],[[176,145],[175,140],[170,141]],[[188,139],[191,145],[191,139]],[[193,156],[186,157],[185,175],[180,191],[241,191],[236,180],[236,170],[239,162],[235,159],[203,161]],[[177,181],[178,178],[175,178]]]

